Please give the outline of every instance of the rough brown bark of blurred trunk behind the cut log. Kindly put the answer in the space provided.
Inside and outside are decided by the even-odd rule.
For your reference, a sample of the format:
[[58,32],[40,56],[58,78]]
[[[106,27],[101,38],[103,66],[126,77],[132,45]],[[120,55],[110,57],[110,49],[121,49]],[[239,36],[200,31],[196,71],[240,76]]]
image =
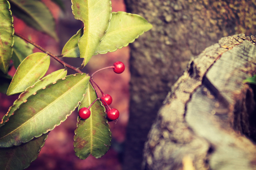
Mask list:
[[131,44],[130,119],[124,170],[141,168],[147,133],[191,57],[221,37],[256,31],[254,1],[125,0],[127,11],[153,28]]

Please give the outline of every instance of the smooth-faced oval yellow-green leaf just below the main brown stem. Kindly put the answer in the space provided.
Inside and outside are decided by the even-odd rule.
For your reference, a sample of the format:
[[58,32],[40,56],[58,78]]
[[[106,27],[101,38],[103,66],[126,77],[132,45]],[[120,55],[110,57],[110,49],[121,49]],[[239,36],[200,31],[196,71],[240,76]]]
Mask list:
[[42,78],[50,65],[50,56],[36,52],[24,59],[16,70],[7,95],[23,92],[27,87]]

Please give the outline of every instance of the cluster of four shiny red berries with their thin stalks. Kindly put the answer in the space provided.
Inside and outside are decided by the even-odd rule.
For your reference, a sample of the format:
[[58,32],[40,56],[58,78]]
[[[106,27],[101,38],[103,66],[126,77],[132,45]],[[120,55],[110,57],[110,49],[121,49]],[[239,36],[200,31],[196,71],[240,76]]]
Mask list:
[[[113,68],[113,71],[117,74],[120,74],[120,73],[123,73],[123,71],[125,71],[125,65],[120,62],[120,61],[117,61],[113,64],[113,66],[110,66],[110,67],[105,67],[105,68],[102,68],[100,70],[104,70],[104,69],[107,69],[107,68]],[[100,87],[92,80],[92,76],[97,73],[98,71],[100,70],[97,70],[95,71],[94,73],[92,73],[91,75],[91,79],[90,81],[92,83],[94,83],[100,90],[101,94],[102,94],[102,97],[99,98],[99,94],[97,93],[96,91],[96,94],[98,96],[98,98],[91,103],[91,105],[86,108],[86,107],[83,107],[81,108],[79,111],[78,111],[78,114],[79,114],[79,117],[81,119],[87,119],[91,116],[91,111],[90,111],[90,108],[91,106],[97,101],[97,100],[101,100],[102,103],[104,104],[105,108],[106,108],[106,113],[107,113],[107,119],[108,121],[113,121],[113,120],[116,120],[118,117],[119,117],[119,111],[115,108],[110,108],[109,105],[111,105],[113,99],[111,97],[111,95],[109,94],[104,94],[104,92],[102,92],[102,90],[100,89]],[[95,89],[95,88],[94,88]]]

